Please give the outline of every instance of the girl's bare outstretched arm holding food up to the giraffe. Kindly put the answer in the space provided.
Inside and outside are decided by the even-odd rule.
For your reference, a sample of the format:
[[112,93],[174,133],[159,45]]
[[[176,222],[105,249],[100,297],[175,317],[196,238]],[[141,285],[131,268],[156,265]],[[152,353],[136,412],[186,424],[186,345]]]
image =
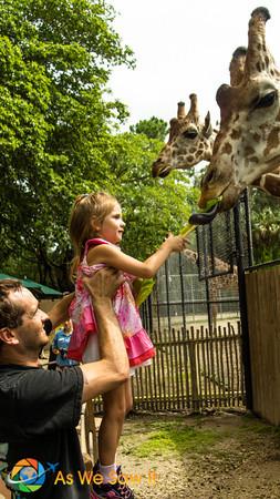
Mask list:
[[169,235],[160,247],[145,262],[139,262],[125,253],[120,252],[115,246],[101,244],[90,249],[87,254],[87,264],[94,265],[104,263],[111,267],[135,275],[136,277],[154,277],[158,268],[168,258],[172,252],[184,249],[186,240],[182,236]]

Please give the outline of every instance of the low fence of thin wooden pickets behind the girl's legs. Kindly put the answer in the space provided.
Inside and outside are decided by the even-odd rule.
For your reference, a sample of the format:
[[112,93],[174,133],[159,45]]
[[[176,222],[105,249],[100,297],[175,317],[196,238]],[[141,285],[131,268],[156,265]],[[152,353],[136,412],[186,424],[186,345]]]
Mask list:
[[[156,357],[133,377],[136,411],[199,411],[245,405],[241,329],[155,330]],[[101,399],[95,411],[102,410]]]

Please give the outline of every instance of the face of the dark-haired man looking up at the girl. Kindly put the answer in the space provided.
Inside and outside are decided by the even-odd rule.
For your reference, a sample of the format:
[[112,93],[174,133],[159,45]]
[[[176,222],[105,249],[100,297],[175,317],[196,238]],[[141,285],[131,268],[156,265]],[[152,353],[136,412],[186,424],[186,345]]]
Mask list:
[[19,345],[23,350],[40,350],[49,342],[44,330],[48,315],[39,308],[38,299],[25,287],[11,292],[9,298],[24,310],[22,324],[13,329]]

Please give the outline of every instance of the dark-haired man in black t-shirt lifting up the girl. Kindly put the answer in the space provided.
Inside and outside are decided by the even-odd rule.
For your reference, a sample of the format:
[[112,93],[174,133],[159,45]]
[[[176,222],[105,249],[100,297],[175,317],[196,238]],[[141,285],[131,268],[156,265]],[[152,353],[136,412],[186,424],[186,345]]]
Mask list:
[[129,376],[111,301],[123,278],[107,268],[84,282],[98,324],[101,360],[56,371],[40,368],[39,354],[50,319],[52,327],[66,319],[72,296],[48,316],[19,282],[0,281],[0,442],[8,442],[7,482],[19,498],[30,492],[32,499],[90,498],[75,430],[82,403]]

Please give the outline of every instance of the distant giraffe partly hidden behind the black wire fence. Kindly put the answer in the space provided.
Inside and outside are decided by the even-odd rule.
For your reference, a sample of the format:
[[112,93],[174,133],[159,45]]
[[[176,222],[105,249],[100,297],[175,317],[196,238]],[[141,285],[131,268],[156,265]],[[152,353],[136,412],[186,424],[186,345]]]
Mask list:
[[[183,254],[187,259],[198,265],[197,252],[186,248],[184,249]],[[207,259],[210,261],[209,257],[207,257]],[[210,264],[212,264],[211,261]],[[218,257],[214,257],[214,266],[218,273],[225,273],[221,275],[217,275],[216,277],[214,276],[211,278],[208,278],[209,299],[211,303],[211,320],[212,327],[215,328],[217,327],[219,292],[221,289],[238,286],[238,268],[236,265],[234,265],[232,272],[230,272],[231,266],[227,262],[224,262]]]

